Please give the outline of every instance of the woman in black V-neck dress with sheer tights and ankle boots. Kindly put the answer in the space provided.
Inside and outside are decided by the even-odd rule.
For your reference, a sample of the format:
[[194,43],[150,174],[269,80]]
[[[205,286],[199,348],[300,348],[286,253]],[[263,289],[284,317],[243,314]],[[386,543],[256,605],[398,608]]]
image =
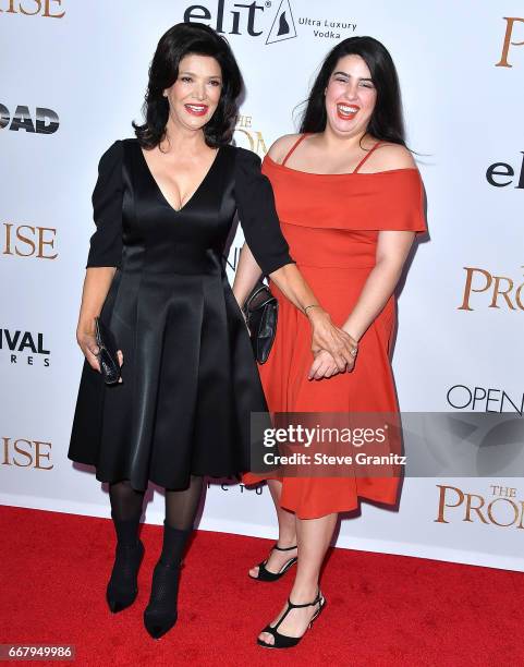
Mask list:
[[[144,613],[154,638],[176,620],[180,562],[203,476],[249,470],[249,414],[266,402],[222,254],[235,211],[254,256],[307,315],[313,350],[351,364],[334,327],[291,259],[258,157],[228,145],[242,78],[224,39],[179,24],[160,39],[136,140],[99,165],[77,340],[86,356],[69,458],[109,483],[117,532],[107,589],[112,611],[137,594],[148,481],[166,488],[163,546]],[[122,381],[99,373],[94,318],[112,330]]]

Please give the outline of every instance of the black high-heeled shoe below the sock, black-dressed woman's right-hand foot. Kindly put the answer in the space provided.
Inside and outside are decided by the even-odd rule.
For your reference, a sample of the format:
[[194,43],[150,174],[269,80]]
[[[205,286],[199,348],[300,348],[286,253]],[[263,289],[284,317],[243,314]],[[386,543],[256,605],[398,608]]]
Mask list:
[[160,639],[176,622],[179,580],[180,562],[157,562],[153,572],[149,604],[144,610],[144,626],[153,639]]

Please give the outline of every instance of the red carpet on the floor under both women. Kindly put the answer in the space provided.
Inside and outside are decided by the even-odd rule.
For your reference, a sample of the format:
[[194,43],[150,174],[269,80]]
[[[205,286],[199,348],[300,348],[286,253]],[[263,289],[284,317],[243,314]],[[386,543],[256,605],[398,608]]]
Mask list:
[[[291,577],[247,578],[266,539],[199,532],[183,570],[179,622],[159,641],[142,626],[160,526],[145,525],[135,604],[112,616],[109,520],[0,509],[0,643],[71,643],[74,664],[515,665],[524,663],[522,574],[334,549],[322,579],[326,610],[296,647],[268,651],[257,632],[282,606]],[[35,663],[44,664],[44,663]]]

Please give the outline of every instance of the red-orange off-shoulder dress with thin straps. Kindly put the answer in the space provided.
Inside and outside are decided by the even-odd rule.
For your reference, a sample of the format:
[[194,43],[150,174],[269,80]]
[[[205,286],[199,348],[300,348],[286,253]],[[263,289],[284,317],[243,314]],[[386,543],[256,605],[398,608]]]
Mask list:
[[[376,264],[379,232],[426,231],[421,175],[415,168],[362,173],[363,162],[343,174],[297,171],[285,166],[296,145],[281,165],[266,156],[263,172],[273,187],[280,226],[297,267],[333,323],[342,326]],[[390,363],[394,295],[362,337],[352,373],[308,380],[313,355],[307,318],[275,283],[271,291],[279,301],[277,336],[268,361],[259,366],[270,412],[398,412]],[[246,484],[258,481],[259,475],[244,475]],[[400,485],[398,476],[281,481],[281,506],[302,519],[355,509],[360,498],[394,505]]]

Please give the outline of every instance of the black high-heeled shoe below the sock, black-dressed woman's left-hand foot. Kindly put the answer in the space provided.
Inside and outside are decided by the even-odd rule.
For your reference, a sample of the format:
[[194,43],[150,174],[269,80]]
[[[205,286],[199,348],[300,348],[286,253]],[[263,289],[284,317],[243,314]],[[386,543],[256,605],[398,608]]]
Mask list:
[[130,607],[138,595],[138,569],[144,557],[144,545],[117,544],[113,569],[106,590],[106,599],[113,614]]

